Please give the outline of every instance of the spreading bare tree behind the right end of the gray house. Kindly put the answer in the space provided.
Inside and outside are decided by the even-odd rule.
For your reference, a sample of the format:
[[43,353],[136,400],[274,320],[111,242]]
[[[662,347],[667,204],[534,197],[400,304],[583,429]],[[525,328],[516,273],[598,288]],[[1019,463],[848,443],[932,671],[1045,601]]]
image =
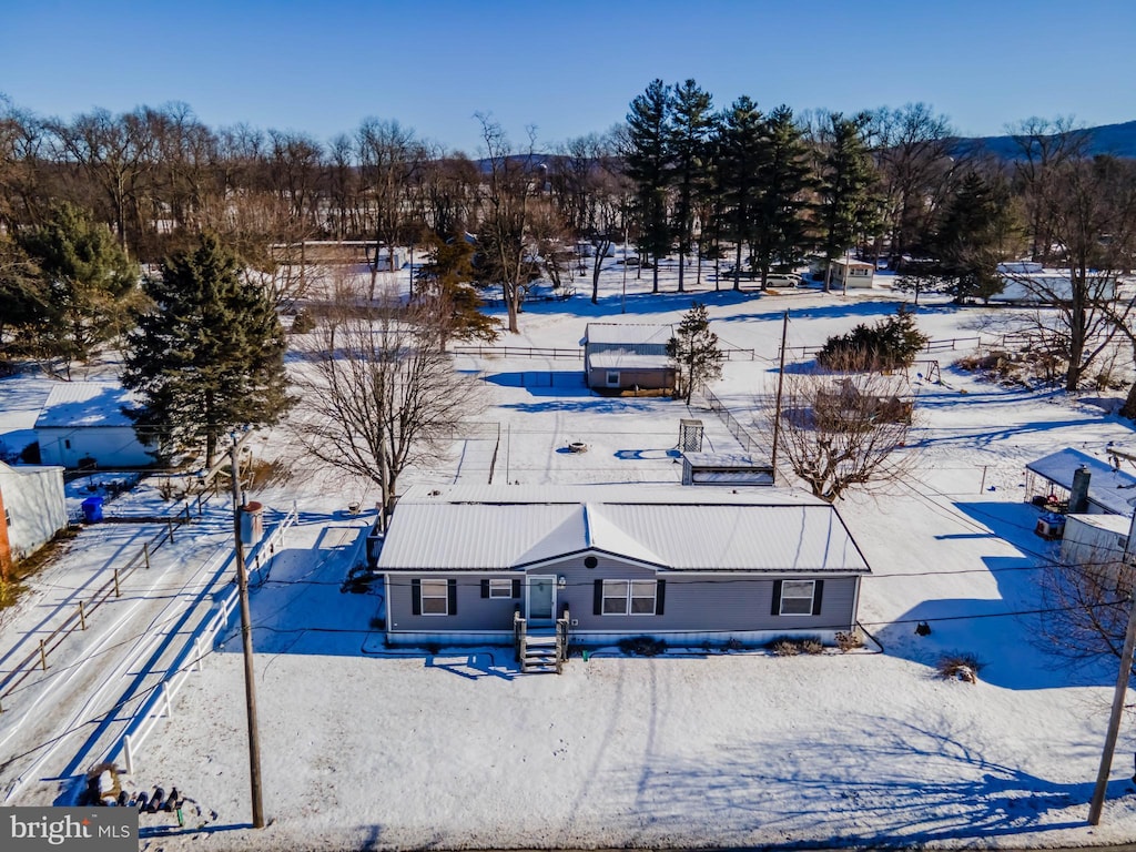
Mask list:
[[[821,500],[854,485],[894,482],[907,469],[912,407],[907,379],[882,371],[787,373],[779,452]],[[769,410],[771,436],[777,412]]]

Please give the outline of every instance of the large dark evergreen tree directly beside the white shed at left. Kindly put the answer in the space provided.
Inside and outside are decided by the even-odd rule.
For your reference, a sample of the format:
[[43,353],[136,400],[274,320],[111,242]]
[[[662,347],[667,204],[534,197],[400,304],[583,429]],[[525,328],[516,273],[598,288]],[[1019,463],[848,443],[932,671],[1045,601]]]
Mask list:
[[241,426],[277,423],[286,394],[286,341],[269,295],[248,282],[214,236],[167,259],[145,293],[153,302],[127,335],[123,384],[144,408],[135,429],[161,456],[219,438]]

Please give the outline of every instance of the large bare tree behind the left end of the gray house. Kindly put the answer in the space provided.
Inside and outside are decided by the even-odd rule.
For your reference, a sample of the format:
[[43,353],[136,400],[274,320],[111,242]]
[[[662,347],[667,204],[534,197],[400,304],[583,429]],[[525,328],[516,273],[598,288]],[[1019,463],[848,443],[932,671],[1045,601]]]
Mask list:
[[315,458],[378,485],[385,528],[399,477],[436,463],[481,410],[481,387],[454,370],[436,323],[384,295],[375,307],[366,287],[339,282],[294,377],[294,427]]

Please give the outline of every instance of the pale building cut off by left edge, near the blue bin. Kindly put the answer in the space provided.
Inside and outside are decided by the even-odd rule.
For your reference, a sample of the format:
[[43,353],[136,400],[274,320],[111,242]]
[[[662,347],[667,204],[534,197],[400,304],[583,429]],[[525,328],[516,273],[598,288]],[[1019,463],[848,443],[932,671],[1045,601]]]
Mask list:
[[31,556],[66,526],[61,467],[0,461],[0,565]]

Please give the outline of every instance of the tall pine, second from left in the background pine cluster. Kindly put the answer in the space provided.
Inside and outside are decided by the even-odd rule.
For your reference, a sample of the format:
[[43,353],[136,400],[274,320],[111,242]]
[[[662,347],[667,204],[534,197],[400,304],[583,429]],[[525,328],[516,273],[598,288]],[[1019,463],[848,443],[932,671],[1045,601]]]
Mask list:
[[675,236],[678,237],[678,292],[685,290],[686,257],[691,252],[694,229],[694,202],[707,158],[707,139],[713,125],[710,94],[687,80],[675,86],[670,149],[674,153]]

